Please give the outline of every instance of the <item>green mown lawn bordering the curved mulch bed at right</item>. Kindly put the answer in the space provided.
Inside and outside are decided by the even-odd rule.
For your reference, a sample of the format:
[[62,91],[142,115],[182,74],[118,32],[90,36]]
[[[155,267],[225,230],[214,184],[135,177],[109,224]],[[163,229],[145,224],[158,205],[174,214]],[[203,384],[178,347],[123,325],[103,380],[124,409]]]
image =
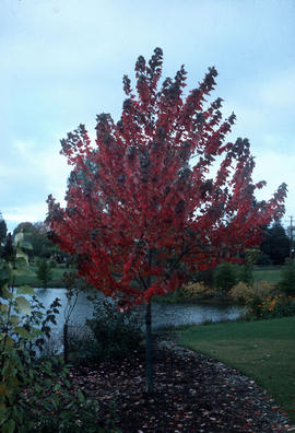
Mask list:
[[268,389],[295,422],[295,317],[185,328],[180,344],[228,364]]

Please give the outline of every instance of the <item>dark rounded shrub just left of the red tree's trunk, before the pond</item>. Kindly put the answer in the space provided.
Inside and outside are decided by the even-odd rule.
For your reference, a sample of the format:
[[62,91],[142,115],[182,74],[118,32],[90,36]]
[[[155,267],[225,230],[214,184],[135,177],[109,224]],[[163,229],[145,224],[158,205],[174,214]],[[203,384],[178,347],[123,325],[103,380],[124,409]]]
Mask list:
[[70,339],[70,351],[78,361],[123,360],[139,350],[143,335],[135,316],[120,312],[107,301],[96,301],[92,319],[86,320],[92,337]]

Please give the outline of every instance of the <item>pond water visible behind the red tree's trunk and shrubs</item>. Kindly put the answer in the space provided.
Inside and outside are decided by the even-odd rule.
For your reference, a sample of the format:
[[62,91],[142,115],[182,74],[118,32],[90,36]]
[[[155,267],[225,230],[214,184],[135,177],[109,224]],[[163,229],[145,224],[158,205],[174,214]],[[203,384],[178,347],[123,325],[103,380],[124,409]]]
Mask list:
[[[56,331],[61,330],[64,321],[64,308],[67,305],[67,291],[64,289],[35,289],[37,297],[45,307],[59,297],[61,308],[57,315]],[[103,295],[97,293],[103,299]],[[204,321],[235,320],[244,314],[245,309],[240,306],[209,306],[197,304],[152,304],[153,328],[175,327],[180,325],[199,325]],[[134,313],[144,323],[144,306],[134,308]],[[79,293],[78,303],[71,315],[71,325],[84,325],[87,318],[93,316],[93,302],[87,299],[87,293]]]

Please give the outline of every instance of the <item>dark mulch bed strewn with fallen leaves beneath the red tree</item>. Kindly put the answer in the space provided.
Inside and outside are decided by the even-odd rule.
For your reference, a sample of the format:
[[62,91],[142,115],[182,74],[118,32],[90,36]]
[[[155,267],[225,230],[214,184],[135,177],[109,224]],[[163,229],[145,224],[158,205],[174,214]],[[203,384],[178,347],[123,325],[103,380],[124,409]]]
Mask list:
[[73,383],[99,400],[104,416],[115,402],[122,433],[295,431],[267,391],[238,371],[165,335],[156,344],[152,395],[145,393],[144,352],[71,371]]

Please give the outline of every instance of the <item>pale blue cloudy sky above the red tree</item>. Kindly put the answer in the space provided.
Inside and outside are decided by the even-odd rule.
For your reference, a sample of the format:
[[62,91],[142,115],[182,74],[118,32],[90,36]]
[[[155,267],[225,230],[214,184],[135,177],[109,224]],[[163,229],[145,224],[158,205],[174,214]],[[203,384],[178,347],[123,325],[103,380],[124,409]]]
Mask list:
[[247,137],[259,199],[288,186],[283,223],[295,216],[294,0],[0,0],[0,211],[10,231],[44,221],[63,202],[70,167],[60,140],[95,118],[121,114],[122,75],[164,51],[163,78],[184,63],[188,90],[209,67],[212,93]]

